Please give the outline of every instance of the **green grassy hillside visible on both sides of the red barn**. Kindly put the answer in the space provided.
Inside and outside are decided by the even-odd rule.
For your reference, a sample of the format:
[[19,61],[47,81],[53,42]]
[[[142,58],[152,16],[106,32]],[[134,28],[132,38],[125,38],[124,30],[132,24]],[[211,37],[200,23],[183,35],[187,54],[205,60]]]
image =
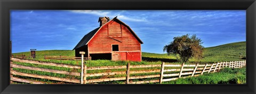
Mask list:
[[[30,55],[30,52],[14,53],[13,55],[25,54]],[[36,51],[37,57],[42,59],[44,55],[50,56],[75,56],[75,50],[41,50]],[[242,57],[246,57],[246,42],[234,42],[230,44],[207,47],[204,49],[204,58],[190,59],[189,61],[194,63],[205,63],[205,62],[223,62],[223,61],[239,61],[240,54]],[[177,62],[177,58],[174,55],[168,56],[167,54],[155,54],[142,52],[143,61],[162,61],[162,62]]]

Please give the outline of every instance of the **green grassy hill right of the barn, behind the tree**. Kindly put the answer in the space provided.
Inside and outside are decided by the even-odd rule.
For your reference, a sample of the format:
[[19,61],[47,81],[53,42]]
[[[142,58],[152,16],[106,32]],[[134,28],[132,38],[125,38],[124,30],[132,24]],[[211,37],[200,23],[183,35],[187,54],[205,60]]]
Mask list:
[[[215,46],[215,47],[207,47],[204,49],[204,58],[190,59],[190,62],[224,62],[224,61],[239,61],[240,54],[242,57],[246,57],[246,42],[234,42],[230,44]],[[174,55],[168,56],[167,54],[154,54],[154,53],[142,53],[143,57],[150,58],[165,58],[169,59],[169,61],[173,61],[176,59]]]

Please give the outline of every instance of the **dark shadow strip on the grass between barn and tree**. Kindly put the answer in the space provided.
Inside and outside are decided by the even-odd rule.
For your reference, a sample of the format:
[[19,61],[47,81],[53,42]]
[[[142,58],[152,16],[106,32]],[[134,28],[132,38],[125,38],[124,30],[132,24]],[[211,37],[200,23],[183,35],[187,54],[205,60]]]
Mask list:
[[167,59],[167,58],[152,58],[152,57],[142,57],[142,61],[148,61],[148,62],[178,62],[177,59]]

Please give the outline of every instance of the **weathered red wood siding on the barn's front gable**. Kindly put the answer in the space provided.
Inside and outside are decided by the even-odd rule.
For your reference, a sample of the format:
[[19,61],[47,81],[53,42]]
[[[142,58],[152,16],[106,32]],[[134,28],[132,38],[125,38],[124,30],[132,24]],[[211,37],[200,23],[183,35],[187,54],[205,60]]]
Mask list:
[[[110,29],[111,28],[111,29]],[[116,41],[114,39],[119,41]],[[132,35],[131,31],[123,24],[116,21],[110,21],[103,25],[101,29],[89,41],[89,54],[92,53],[111,53],[112,45],[118,45],[119,51],[141,51],[140,42]],[[121,55],[119,59],[126,58],[126,55]],[[141,58],[141,55],[136,55]]]

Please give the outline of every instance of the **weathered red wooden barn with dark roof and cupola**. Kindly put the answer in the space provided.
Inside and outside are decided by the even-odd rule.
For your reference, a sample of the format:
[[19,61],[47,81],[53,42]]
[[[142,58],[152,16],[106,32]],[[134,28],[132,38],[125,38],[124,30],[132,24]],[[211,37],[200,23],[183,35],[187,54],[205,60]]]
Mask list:
[[[76,45],[76,57],[85,52],[92,59],[111,59],[113,61],[141,61],[143,42],[129,27],[117,18],[110,20],[100,17],[100,27],[87,33]],[[73,50],[74,50],[73,49]]]

